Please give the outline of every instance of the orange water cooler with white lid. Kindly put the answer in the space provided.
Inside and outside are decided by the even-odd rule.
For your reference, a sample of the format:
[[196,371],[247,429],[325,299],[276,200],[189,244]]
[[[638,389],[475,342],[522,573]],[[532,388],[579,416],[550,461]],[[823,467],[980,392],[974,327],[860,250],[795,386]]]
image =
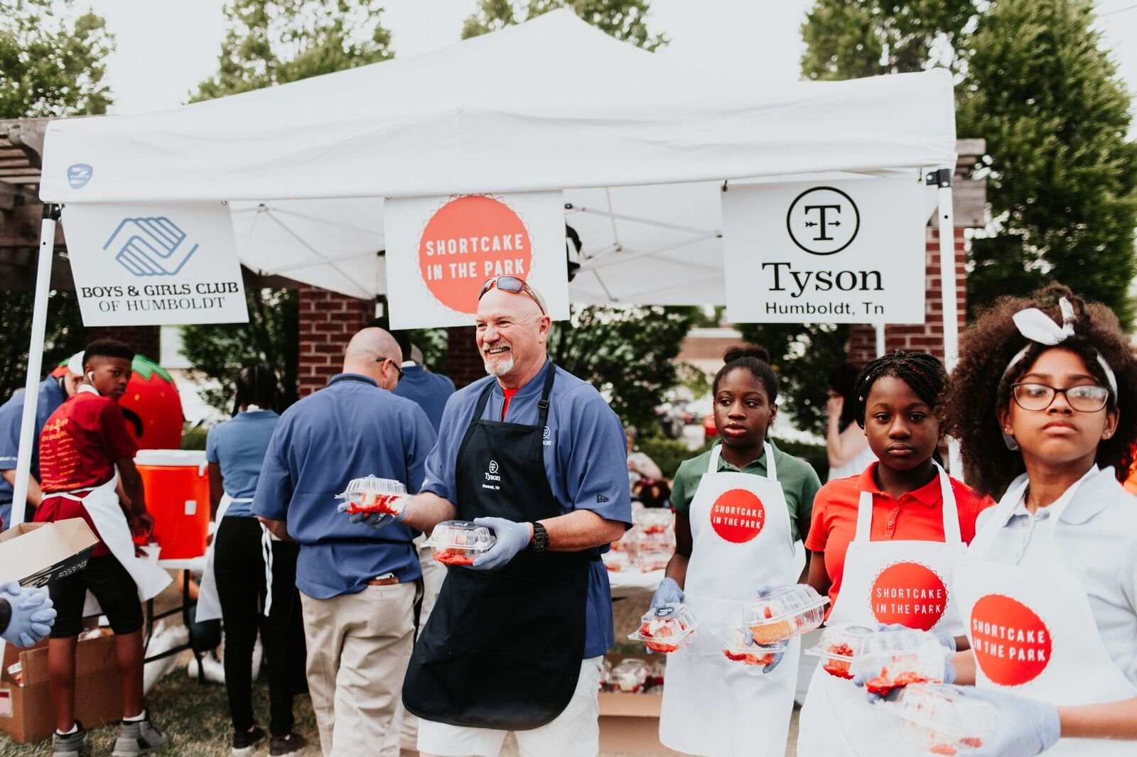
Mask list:
[[209,474],[201,450],[143,449],[134,456],[159,559],[200,557],[209,533]]

